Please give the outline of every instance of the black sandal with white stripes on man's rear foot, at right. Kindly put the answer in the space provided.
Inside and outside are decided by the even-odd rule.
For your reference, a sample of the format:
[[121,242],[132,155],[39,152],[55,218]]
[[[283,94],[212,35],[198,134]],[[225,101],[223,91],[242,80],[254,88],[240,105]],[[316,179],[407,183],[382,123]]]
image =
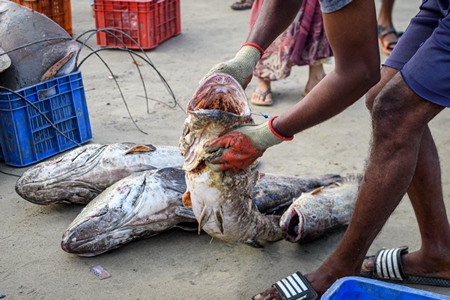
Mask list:
[[366,259],[374,258],[373,270],[361,270],[361,276],[397,283],[450,287],[450,279],[447,278],[405,274],[401,256],[406,253],[408,253],[408,247],[403,246],[393,249],[381,249],[375,256],[367,256]]

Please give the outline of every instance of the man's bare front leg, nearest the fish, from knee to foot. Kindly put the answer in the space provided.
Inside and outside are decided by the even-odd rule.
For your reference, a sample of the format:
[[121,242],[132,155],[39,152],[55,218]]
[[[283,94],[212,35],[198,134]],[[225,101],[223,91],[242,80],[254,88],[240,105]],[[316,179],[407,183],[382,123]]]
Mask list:
[[[372,109],[372,148],[350,225],[336,251],[306,276],[320,294],[338,278],[359,275],[367,250],[413,180],[427,124],[442,109],[412,92],[398,73],[382,89]],[[419,206],[433,205],[414,198]],[[434,209],[423,213],[422,227],[425,219],[442,218]]]

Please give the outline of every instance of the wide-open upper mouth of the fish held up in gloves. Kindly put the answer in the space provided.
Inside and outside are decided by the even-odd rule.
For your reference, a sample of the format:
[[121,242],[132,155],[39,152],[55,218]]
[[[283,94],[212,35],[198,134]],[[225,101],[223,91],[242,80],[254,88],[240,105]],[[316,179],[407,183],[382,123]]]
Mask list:
[[236,115],[249,115],[250,106],[244,89],[232,76],[215,73],[201,82],[188,103],[187,111],[220,110]]

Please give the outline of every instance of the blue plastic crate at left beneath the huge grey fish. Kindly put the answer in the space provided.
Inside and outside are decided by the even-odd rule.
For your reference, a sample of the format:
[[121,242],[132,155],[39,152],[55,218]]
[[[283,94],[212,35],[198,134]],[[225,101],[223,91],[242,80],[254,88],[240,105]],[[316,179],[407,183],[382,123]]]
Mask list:
[[92,138],[80,71],[15,92],[40,112],[14,93],[0,89],[0,146],[6,164],[27,166]]

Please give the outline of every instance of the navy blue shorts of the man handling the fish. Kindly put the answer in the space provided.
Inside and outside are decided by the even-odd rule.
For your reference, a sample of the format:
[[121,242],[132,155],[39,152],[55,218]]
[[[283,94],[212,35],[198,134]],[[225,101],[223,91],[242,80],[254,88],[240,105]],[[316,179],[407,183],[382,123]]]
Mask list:
[[423,0],[385,66],[420,97],[450,107],[450,0]]

